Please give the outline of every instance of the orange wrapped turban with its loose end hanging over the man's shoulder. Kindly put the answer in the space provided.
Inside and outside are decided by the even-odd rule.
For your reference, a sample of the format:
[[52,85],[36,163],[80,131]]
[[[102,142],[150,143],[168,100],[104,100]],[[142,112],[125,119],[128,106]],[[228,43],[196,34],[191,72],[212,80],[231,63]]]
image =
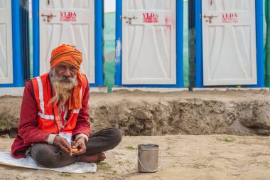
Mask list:
[[79,71],[80,63],[82,63],[82,53],[74,46],[62,44],[61,46],[53,49],[50,58],[50,68],[55,67],[55,65],[58,65],[63,61],[77,68],[78,85],[73,88],[72,95],[68,101],[68,110],[79,110],[82,108],[82,97],[80,95],[82,75]]

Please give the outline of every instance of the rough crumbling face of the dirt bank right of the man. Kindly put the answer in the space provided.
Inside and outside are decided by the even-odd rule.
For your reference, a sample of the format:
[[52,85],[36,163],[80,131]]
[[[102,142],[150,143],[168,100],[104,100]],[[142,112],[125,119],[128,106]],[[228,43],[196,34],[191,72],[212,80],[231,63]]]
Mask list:
[[269,102],[121,100],[90,109],[93,129],[115,126],[124,135],[270,134]]

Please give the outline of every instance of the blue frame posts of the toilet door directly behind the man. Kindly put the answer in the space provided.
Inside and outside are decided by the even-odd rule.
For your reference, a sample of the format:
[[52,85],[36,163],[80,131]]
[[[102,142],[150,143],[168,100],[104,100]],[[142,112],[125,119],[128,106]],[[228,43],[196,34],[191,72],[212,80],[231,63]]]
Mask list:
[[[39,1],[33,0],[33,77],[40,75]],[[95,83],[90,87],[103,86],[103,28],[104,0],[95,0]]]

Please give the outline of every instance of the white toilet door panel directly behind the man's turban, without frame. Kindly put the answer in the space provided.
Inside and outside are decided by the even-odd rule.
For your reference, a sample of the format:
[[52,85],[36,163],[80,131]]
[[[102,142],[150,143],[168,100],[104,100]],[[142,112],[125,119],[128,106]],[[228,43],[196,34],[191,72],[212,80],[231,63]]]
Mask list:
[[95,0],[40,0],[40,74],[53,48],[66,43],[82,52],[80,68],[95,83]]

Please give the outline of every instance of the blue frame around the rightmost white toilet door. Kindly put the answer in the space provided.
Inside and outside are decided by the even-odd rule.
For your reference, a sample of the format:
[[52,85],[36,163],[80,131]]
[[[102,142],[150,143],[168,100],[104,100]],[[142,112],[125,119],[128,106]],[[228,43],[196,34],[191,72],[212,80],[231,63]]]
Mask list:
[[[190,0],[188,2],[189,8],[189,32],[195,30],[195,78],[194,84],[190,85],[194,88],[205,88],[211,86],[203,85],[203,64],[202,64],[202,0]],[[263,88],[264,87],[264,12],[263,1],[256,0],[256,47],[257,47],[257,85],[242,85],[243,87],[250,88]],[[190,47],[189,47],[190,48]],[[190,50],[189,50],[190,51]],[[192,53],[189,53],[192,55]],[[234,87],[235,85],[232,85]]]

